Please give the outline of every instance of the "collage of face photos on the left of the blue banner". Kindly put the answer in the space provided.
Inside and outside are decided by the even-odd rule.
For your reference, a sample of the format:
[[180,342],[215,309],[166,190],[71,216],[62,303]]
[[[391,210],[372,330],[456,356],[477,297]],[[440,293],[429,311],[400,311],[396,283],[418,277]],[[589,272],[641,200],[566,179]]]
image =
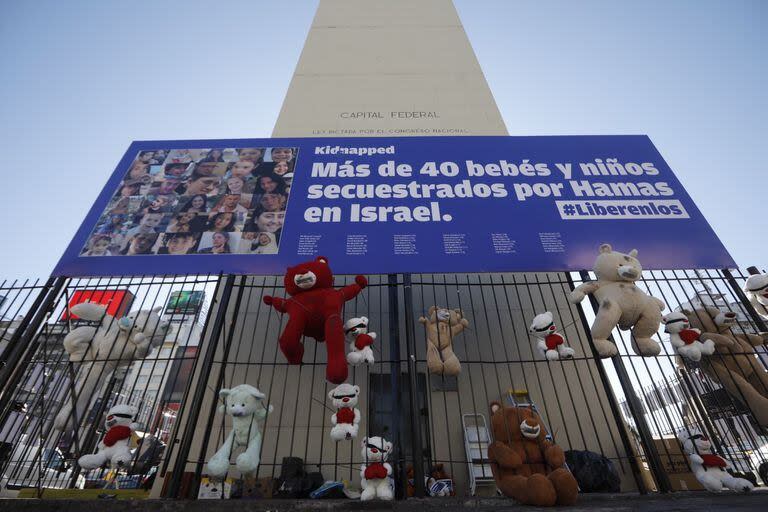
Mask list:
[[141,151],[80,256],[277,254],[297,148]]

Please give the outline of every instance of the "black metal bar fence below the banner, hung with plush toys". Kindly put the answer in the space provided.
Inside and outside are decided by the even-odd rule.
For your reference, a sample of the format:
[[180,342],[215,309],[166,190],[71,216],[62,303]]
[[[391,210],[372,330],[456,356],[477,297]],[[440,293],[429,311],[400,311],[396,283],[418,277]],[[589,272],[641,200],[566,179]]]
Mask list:
[[[0,473],[5,485],[34,487],[38,494],[51,487],[117,483],[154,486],[155,496],[196,497],[205,486],[206,462],[231,428],[230,419],[217,411],[218,391],[250,384],[273,407],[259,468],[241,485],[241,490],[257,487],[254,495],[278,491],[286,457],[301,459],[308,473],[320,473],[315,475],[320,480],[359,486],[365,436],[393,442],[389,461],[398,498],[429,495],[431,473],[447,475],[456,495],[494,495],[487,456],[494,401],[534,408],[569,457],[585,451],[604,457],[621,491],[695,489],[675,439],[694,428],[705,432],[737,471],[757,475],[768,460],[768,438],[759,419],[765,411],[753,410],[754,393],[768,397],[768,389],[765,380],[748,373],[749,368],[765,372],[765,349],[718,351],[696,364],[675,355],[660,333],[661,354],[640,357],[627,333],[617,330],[613,340],[619,355],[599,359],[589,335],[594,310],[587,302],[568,302],[570,291],[590,277],[586,272],[369,277],[369,286],[346,304],[344,319],[369,319],[378,334],[376,362],[350,367],[347,382],[361,389],[361,421],[357,439],[340,442],[329,437],[334,410],[328,393],[334,385],[325,380],[324,344],[306,339],[302,365],[289,365],[278,348],[287,318],[265,305],[263,297],[284,296],[282,278],[13,283],[2,304],[6,318],[12,318],[3,324],[3,339],[10,343],[0,352],[8,363],[0,395],[5,450]],[[741,293],[746,277],[719,270],[653,271],[645,272],[638,285],[662,299],[667,312],[713,306],[736,313],[732,332],[764,332],[762,317]],[[351,282],[340,276],[336,285]],[[117,368],[104,372],[109,374],[97,379],[93,392],[78,396],[80,379],[94,367],[71,362],[62,341],[90,324],[73,319],[68,309],[78,292],[114,290],[132,294],[127,312],[163,306],[163,319],[174,327],[143,359],[126,363],[112,356]],[[205,292],[202,307],[169,313],[165,306],[171,294],[182,290]],[[466,319],[466,327],[450,337],[450,350],[461,365],[458,375],[434,368],[426,329],[433,307]],[[528,326],[543,311],[553,313],[573,358],[550,361],[536,349]],[[439,343],[443,359],[450,356],[445,341]],[[719,370],[745,361],[748,368],[736,364],[730,373]],[[139,411],[133,463],[120,474],[82,471],[77,457],[94,451],[104,412],[118,403]],[[76,426],[57,430],[55,417],[68,406]],[[242,475],[232,459],[229,476],[237,483]],[[224,489],[219,488],[222,496]]]

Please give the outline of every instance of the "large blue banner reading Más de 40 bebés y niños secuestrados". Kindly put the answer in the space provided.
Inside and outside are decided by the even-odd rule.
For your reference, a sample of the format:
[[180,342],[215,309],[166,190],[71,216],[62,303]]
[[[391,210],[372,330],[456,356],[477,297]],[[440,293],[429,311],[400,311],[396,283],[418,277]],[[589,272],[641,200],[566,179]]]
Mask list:
[[734,267],[646,136],[134,142],[54,275]]

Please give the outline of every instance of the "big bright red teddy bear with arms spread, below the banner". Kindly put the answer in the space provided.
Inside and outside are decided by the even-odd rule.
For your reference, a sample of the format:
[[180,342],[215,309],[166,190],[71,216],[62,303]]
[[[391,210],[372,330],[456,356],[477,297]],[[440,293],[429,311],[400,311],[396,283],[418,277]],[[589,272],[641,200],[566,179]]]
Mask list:
[[328,363],[325,378],[334,384],[347,380],[347,360],[344,356],[344,322],[341,309],[368,285],[363,276],[355,284],[338,290],[333,287],[333,272],[328,259],[318,256],[314,261],[289,267],[285,274],[285,291],[291,297],[264,296],[264,303],[280,313],[288,313],[288,323],[280,336],[280,350],[290,364],[301,364],[304,356],[302,336],[318,342],[325,341]]

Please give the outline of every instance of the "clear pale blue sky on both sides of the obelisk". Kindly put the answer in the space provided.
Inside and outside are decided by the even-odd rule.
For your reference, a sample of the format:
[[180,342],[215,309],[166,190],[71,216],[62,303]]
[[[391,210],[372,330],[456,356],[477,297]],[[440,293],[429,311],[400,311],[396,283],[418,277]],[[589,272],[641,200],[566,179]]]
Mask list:
[[[768,263],[768,2],[454,3],[511,135],[648,134]],[[269,137],[316,6],[0,0],[0,279],[51,272],[131,141]]]

